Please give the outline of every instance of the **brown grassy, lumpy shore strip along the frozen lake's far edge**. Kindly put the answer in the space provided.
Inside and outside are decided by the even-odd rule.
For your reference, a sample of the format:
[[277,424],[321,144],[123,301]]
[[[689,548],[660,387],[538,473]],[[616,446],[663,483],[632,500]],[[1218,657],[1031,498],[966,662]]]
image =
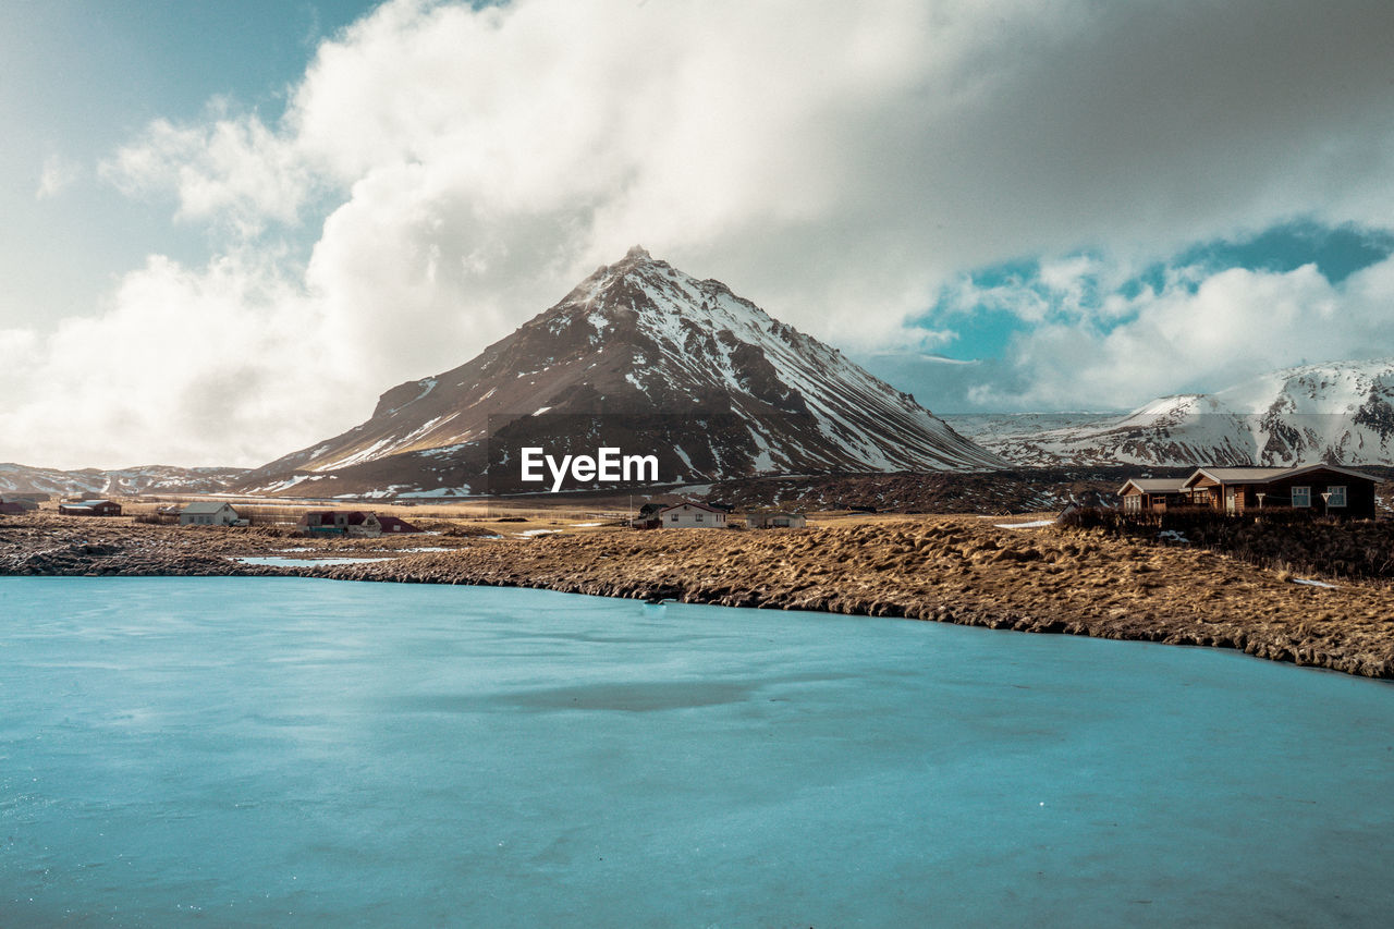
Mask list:
[[[1189,545],[997,522],[930,516],[806,530],[422,541],[29,518],[0,527],[0,575],[301,575],[542,587],[1214,646],[1394,678],[1394,591],[1386,583],[1317,586]],[[421,547],[446,551],[411,551]],[[236,561],[250,555],[389,559],[284,568]]]

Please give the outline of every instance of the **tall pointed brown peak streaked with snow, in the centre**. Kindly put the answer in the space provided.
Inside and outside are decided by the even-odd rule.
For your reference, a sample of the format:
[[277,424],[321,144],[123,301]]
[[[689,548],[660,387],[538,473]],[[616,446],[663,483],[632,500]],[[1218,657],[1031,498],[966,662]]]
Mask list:
[[517,449],[594,453],[602,441],[657,455],[662,483],[1001,466],[838,350],[636,247],[478,357],[392,388],[361,425],[241,487],[541,490],[519,484]]

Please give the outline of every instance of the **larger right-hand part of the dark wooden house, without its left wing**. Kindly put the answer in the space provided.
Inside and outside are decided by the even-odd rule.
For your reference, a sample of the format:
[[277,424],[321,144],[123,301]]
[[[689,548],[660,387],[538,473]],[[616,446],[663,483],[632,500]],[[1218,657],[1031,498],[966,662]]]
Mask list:
[[1264,509],[1374,519],[1374,478],[1335,464],[1200,467],[1182,492],[1193,506],[1238,515]]

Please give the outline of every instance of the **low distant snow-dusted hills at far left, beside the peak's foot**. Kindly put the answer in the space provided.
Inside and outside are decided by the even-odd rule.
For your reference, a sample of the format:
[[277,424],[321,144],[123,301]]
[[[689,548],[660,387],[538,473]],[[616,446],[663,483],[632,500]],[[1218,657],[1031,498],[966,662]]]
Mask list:
[[135,494],[220,494],[237,483],[241,467],[171,467],[146,464],[116,470],[88,467],[63,471],[53,467],[0,464],[0,498],[11,494],[54,497],[131,497]]

